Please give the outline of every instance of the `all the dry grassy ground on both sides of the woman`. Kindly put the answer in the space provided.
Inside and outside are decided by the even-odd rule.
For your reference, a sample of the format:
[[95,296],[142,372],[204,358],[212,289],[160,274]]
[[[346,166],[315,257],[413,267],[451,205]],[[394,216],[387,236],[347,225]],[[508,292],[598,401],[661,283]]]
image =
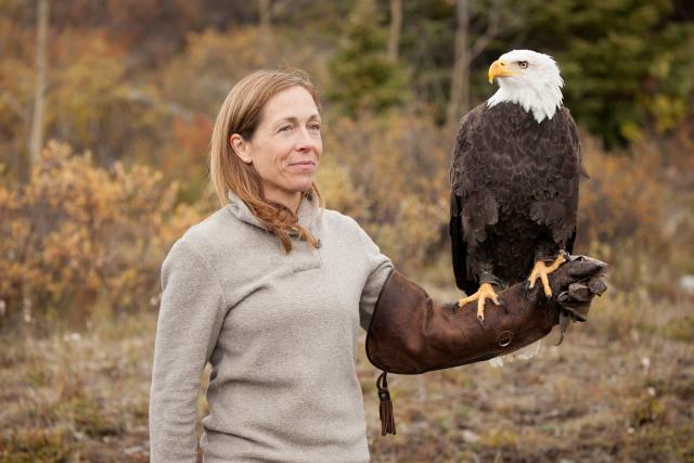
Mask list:
[[[389,375],[396,436],[381,436],[380,372],[362,335],[373,461],[694,462],[694,301],[611,290],[562,346],[553,332],[530,360]],[[0,461],[146,462],[155,324],[144,313],[80,333],[5,333]]]

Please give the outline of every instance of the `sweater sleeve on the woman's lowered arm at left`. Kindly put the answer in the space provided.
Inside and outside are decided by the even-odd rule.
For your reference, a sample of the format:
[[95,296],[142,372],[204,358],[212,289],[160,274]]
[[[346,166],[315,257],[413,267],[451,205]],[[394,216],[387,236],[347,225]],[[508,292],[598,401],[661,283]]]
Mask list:
[[162,292],[150,389],[150,458],[152,463],[194,463],[201,375],[226,304],[209,263],[182,240],[162,265]]

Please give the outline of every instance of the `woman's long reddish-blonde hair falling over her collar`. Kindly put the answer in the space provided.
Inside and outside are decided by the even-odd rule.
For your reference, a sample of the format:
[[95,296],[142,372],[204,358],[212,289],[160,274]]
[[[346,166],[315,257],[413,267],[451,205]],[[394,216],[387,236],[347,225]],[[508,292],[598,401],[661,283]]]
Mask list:
[[[227,204],[227,192],[232,190],[246,203],[260,223],[278,236],[286,253],[292,250],[292,234],[298,235],[299,240],[307,241],[313,247],[318,247],[318,241],[298,224],[298,217],[292,210],[265,197],[262,179],[253,166],[236,156],[229,137],[239,133],[244,140],[250,140],[262,119],[266,103],[277,93],[295,86],[304,87],[320,107],[318,90],[303,70],[264,69],[241,79],[231,89],[217,115],[209,159],[210,180],[221,205]],[[311,201],[316,196],[319,206],[324,207],[316,182],[301,196]]]

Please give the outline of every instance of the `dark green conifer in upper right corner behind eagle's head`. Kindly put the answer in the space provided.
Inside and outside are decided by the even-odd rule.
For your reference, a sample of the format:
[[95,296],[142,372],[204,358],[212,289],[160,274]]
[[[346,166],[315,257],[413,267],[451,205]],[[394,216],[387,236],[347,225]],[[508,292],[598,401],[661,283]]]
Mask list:
[[694,86],[694,25],[672,0],[524,0],[522,46],[554,55],[574,117],[617,147],[670,130]]

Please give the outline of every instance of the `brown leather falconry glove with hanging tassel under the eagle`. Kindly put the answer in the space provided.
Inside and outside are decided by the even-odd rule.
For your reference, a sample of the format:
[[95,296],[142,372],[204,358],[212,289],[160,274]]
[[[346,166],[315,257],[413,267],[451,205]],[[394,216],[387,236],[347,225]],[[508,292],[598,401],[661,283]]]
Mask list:
[[[394,270],[381,290],[367,335],[367,356],[384,372],[376,383],[381,434],[396,434],[386,374],[420,374],[503,356],[547,336],[556,324],[561,338],[571,321],[586,321],[605,284],[603,261],[570,256],[549,275],[551,298],[525,283],[500,293],[504,310],[490,310],[481,325],[476,311],[455,303],[439,305]],[[474,305],[474,303],[470,303]],[[557,344],[557,345],[558,345]]]

